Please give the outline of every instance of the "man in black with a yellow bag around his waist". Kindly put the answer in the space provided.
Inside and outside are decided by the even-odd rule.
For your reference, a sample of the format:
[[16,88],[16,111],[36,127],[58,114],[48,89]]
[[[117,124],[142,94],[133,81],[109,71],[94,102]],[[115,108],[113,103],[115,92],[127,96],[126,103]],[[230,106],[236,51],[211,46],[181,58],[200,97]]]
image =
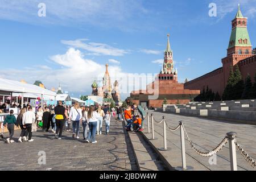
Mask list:
[[[54,108],[54,112],[56,114],[55,122],[56,122],[56,127],[57,127],[56,128],[55,138],[60,140],[61,139],[61,135],[62,135],[62,131],[63,131],[63,126],[64,126],[65,118],[68,119],[68,114],[65,113],[65,107],[62,105],[62,101],[59,101],[59,105],[57,105]],[[58,137],[58,133],[59,133],[59,137]]]

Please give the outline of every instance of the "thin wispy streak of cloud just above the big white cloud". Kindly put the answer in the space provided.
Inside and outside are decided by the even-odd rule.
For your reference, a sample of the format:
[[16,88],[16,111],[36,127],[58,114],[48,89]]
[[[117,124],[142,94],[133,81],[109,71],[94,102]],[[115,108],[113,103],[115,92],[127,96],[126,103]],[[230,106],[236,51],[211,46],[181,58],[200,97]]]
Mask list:
[[87,53],[85,53],[86,55],[123,56],[129,53],[129,51],[125,49],[114,48],[112,46],[109,46],[108,44],[94,42],[85,43],[83,42],[83,40],[88,39],[61,40],[61,43],[71,47],[84,49],[85,51],[88,51]]

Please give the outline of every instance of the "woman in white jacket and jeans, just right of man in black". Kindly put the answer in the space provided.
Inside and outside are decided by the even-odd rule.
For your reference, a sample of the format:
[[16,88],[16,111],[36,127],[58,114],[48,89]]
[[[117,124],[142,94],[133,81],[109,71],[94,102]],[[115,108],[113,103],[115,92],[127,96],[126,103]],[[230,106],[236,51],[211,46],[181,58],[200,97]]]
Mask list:
[[79,103],[76,102],[73,107],[71,107],[70,113],[69,113],[69,119],[72,121],[72,127],[73,127],[73,135],[72,138],[79,139],[79,126],[80,122],[82,121],[82,110],[80,109]]

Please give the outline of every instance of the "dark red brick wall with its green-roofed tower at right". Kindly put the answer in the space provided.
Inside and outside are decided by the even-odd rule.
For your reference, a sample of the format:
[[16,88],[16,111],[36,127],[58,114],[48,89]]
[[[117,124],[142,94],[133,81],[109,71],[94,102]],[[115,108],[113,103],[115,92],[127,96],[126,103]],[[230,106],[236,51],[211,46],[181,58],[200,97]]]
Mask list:
[[185,89],[212,89],[214,93],[222,95],[228,82],[230,68],[238,65],[243,80],[247,74],[251,78],[256,70],[256,50],[252,50],[251,41],[247,31],[247,18],[244,18],[240,6],[235,18],[232,20],[232,32],[229,39],[227,55],[222,59],[222,67],[203,76],[185,83]]

